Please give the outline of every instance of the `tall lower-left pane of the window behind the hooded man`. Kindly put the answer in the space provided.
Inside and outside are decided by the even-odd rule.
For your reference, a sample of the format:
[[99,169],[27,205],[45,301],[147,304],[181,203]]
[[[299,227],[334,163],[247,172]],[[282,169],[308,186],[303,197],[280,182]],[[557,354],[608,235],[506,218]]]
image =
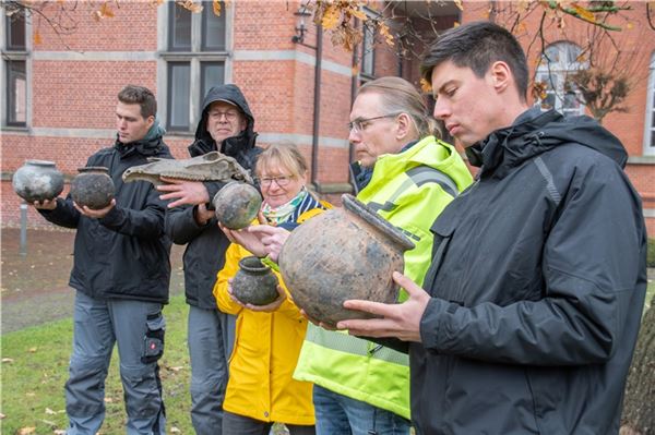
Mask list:
[[171,130],[189,130],[191,65],[188,62],[168,63],[168,122]]

